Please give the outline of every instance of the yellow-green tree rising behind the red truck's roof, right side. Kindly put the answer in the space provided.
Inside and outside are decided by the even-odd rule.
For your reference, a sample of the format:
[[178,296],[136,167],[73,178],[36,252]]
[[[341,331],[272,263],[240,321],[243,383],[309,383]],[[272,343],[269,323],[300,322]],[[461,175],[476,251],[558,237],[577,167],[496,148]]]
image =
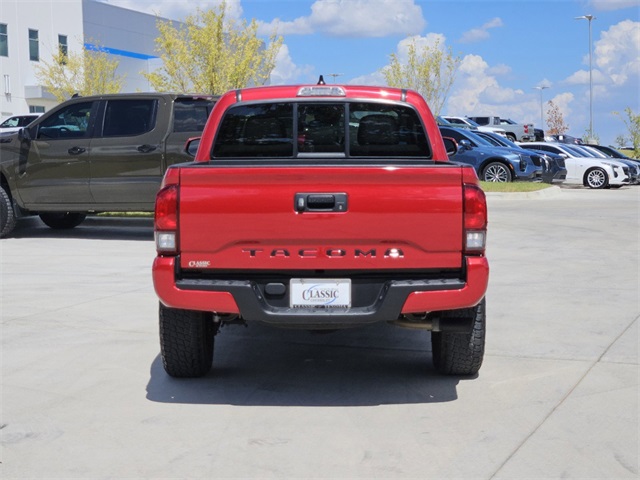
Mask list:
[[441,47],[439,40],[431,46],[418,46],[415,38],[409,43],[406,63],[402,63],[395,53],[390,57],[390,64],[382,72],[387,84],[416,90],[425,98],[433,114],[439,115],[462,59],[455,56],[450,47]]

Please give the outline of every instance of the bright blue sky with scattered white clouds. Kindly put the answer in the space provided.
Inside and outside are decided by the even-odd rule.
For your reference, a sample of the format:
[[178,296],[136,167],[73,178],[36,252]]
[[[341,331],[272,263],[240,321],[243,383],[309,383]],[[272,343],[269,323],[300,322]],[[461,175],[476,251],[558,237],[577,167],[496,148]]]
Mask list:
[[[218,0],[103,0],[181,20]],[[500,115],[540,125],[542,90],[569,132],[589,126],[592,21],[593,129],[612,144],[627,129],[612,112],[640,113],[640,0],[227,0],[236,18],[284,37],[272,83],[384,84],[407,41],[451,47],[462,59],[442,113]],[[340,74],[332,77],[331,74]]]

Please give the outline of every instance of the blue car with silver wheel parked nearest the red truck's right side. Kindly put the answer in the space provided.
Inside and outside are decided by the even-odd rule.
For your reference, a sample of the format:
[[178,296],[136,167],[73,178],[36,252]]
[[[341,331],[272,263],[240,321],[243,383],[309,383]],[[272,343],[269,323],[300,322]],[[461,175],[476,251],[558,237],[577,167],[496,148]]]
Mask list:
[[470,130],[441,126],[440,133],[458,143],[460,149],[454,160],[473,165],[480,180],[511,182],[535,180],[542,175],[542,167],[535,165],[531,155],[495,147]]

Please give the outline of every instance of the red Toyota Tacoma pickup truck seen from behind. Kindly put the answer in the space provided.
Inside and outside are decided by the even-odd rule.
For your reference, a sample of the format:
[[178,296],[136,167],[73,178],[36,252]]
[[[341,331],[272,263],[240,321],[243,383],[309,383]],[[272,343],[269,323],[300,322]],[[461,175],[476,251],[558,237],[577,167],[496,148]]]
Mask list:
[[486,228],[474,170],[449,161],[418,93],[351,85],[228,92],[194,161],[171,166],[156,198],[164,368],[205,375],[223,324],[390,322],[431,331],[437,371],[475,374],[484,355]]

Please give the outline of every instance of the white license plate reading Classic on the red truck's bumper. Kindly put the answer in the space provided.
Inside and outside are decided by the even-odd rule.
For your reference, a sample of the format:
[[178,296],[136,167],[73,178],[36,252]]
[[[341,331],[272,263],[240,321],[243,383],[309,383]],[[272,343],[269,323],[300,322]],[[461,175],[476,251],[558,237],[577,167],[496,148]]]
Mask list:
[[292,278],[290,305],[295,307],[348,308],[351,306],[351,280]]

